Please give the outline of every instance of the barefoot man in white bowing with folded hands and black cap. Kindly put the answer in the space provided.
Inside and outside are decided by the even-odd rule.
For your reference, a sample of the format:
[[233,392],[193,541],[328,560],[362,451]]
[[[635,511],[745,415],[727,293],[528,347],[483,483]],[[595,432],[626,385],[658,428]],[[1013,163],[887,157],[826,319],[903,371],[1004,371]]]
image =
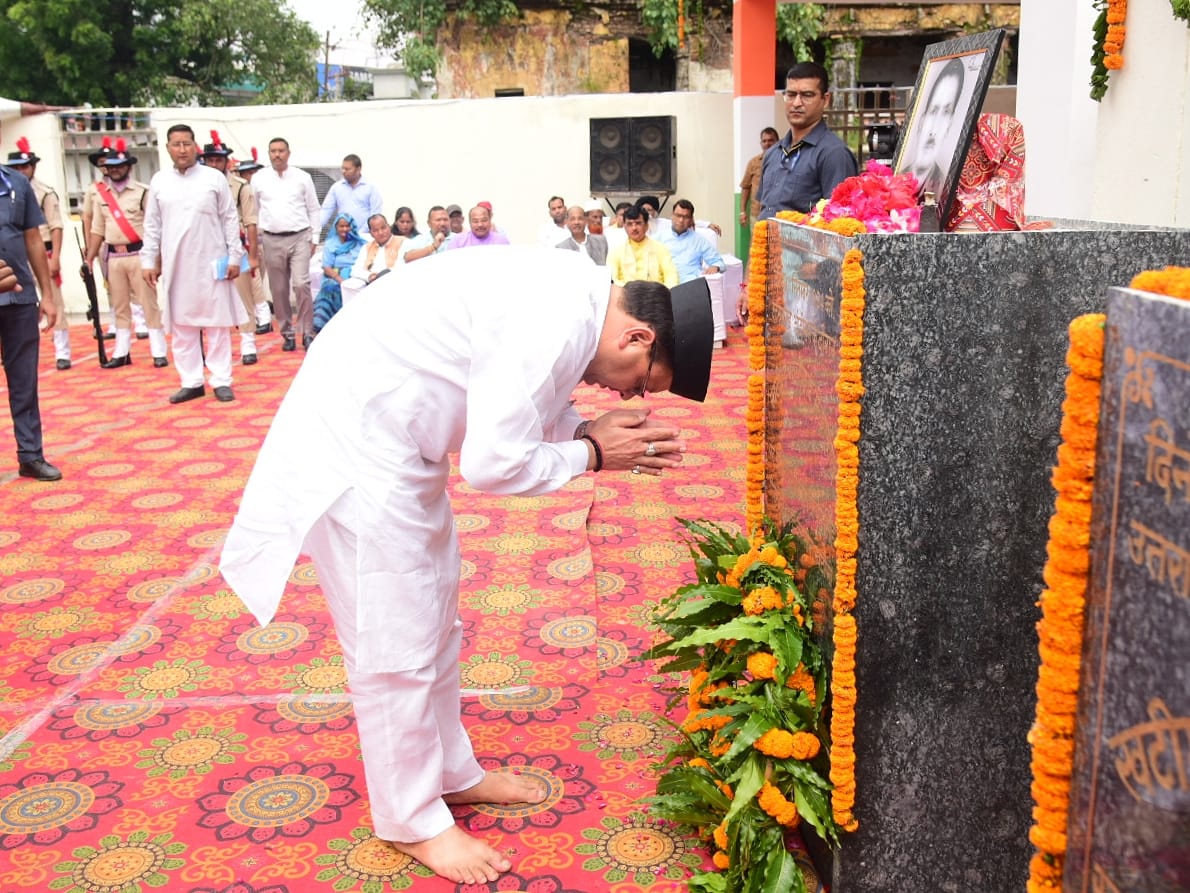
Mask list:
[[[415,312],[411,311],[415,308]],[[679,430],[647,408],[584,421],[581,382],[702,400],[703,280],[608,281],[571,251],[495,246],[397,267],[345,305],[294,377],[220,558],[256,618],[305,551],[343,647],[376,836],[456,883],[511,868],[449,804],[539,803],[486,773],[459,716],[452,452],[481,491],[534,495],[593,470],[659,475]],[[294,486],[294,482],[300,486]]]

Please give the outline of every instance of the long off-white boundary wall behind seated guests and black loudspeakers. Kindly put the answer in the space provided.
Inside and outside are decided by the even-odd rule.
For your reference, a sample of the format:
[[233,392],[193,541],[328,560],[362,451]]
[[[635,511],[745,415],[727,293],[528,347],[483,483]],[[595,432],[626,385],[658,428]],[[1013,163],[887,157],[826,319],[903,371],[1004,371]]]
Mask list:
[[[490,201],[495,221],[514,242],[531,244],[547,219],[551,195],[569,204],[590,198],[590,118],[675,115],[677,119],[677,192],[694,202],[701,219],[724,229],[721,250],[733,242],[733,132],[729,93],[651,93],[575,96],[525,96],[434,101],[333,102],[300,106],[230,108],[159,108],[152,114],[162,166],[169,164],[165,130],[189,124],[200,142],[212,129],[248,157],[256,146],[267,161],[268,143],[284,137],[290,163],[338,169],[355,152],[364,176],[384,196],[390,217],[401,205],[424,221],[431,205],[469,208]],[[43,162],[38,176],[63,189],[57,119],[38,115],[6,121],[0,151],[12,151],[17,137],[29,135]],[[672,202],[663,213],[669,212]],[[75,270],[79,258],[67,233],[64,294],[71,312],[84,306]]]

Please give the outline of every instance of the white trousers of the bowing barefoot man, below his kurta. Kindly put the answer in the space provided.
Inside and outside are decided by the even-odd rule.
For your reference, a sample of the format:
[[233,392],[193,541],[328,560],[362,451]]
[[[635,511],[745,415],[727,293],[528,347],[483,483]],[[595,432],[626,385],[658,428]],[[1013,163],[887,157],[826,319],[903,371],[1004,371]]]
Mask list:
[[[346,498],[350,499],[350,495]],[[463,727],[458,655],[463,624],[443,630],[433,662],[397,673],[356,668],[356,535],[336,518],[340,500],[306,535],[343,647],[371,805],[383,841],[418,843],[455,824],[443,795],[483,779]]]

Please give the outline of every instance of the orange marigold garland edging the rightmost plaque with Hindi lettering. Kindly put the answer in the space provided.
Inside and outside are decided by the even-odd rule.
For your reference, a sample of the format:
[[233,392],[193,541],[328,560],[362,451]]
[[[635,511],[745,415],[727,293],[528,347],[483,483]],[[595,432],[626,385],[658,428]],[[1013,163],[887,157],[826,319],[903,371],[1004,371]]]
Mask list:
[[[1070,324],[1066,400],[1053,486],[1058,492],[1050,522],[1038,623],[1038,705],[1033,747],[1033,820],[1029,839],[1038,853],[1029,862],[1029,893],[1061,888],[1066,857],[1070,775],[1075,757],[1075,714],[1083,650],[1083,611],[1090,570],[1091,495],[1103,376],[1102,313]],[[1065,448],[1065,449],[1064,449]],[[1090,461],[1086,456],[1090,456]]]

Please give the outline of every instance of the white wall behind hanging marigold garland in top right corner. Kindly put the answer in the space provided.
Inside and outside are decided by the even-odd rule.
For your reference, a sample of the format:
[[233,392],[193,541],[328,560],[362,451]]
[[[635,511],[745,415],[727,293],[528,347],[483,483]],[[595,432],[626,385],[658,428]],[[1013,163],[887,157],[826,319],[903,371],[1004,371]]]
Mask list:
[[1165,0],[1129,4],[1125,67],[1095,102],[1094,23],[1085,0],[1021,0],[1026,210],[1190,226],[1190,29]]

